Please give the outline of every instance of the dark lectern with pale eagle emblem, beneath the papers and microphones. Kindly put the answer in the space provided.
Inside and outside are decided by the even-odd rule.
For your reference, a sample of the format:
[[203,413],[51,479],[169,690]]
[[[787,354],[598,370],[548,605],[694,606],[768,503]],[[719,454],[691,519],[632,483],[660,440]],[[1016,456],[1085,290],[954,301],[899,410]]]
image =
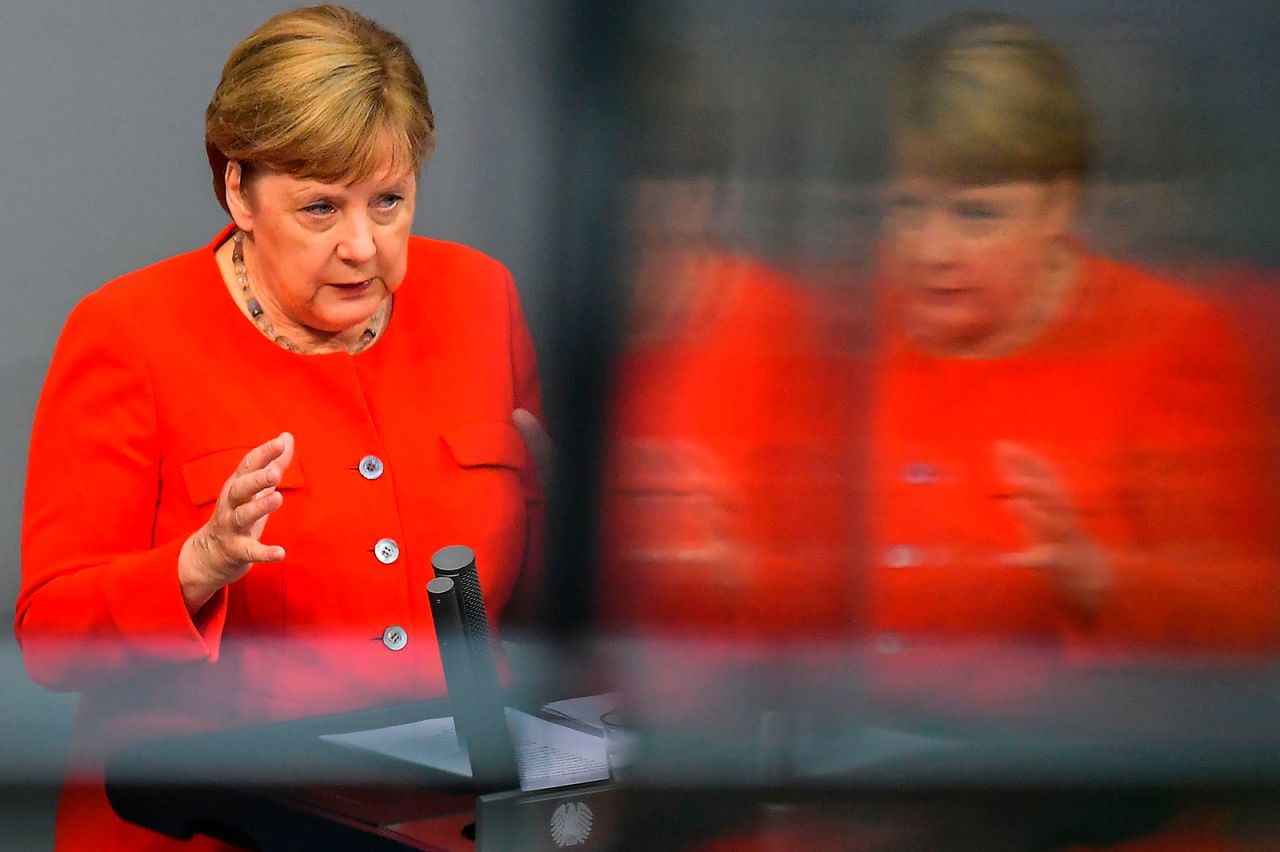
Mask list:
[[557,837],[585,852],[607,848],[607,783],[486,793],[323,739],[448,713],[448,702],[433,701],[140,743],[108,761],[108,797],[120,816],[161,834],[264,852],[557,849]]

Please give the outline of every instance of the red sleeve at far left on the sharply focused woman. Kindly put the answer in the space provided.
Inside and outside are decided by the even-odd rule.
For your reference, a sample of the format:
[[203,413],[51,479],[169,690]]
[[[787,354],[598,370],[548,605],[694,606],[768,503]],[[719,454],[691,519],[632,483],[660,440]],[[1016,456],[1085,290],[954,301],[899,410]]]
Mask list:
[[225,590],[193,622],[182,541],[154,540],[160,444],[145,358],[101,296],[72,312],[36,407],[14,624],[27,670],[86,690],[218,656]]

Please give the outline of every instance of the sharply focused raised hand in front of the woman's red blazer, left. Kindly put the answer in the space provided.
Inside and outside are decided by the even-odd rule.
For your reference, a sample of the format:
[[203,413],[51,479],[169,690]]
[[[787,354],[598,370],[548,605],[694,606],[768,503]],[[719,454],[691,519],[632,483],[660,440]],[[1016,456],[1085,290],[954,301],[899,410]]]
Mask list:
[[223,485],[212,517],[183,542],[178,581],[191,613],[255,563],[284,559],[284,548],[265,545],[261,537],[268,516],[284,503],[275,489],[292,461],[289,432],[251,449]]

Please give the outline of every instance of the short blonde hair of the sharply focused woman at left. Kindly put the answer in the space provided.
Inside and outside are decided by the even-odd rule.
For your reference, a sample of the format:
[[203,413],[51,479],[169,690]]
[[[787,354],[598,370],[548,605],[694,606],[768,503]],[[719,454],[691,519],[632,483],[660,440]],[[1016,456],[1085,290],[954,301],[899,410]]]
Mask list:
[[275,15],[236,46],[205,110],[214,194],[227,164],[333,183],[387,164],[417,171],[435,146],[422,70],[396,33],[338,5]]

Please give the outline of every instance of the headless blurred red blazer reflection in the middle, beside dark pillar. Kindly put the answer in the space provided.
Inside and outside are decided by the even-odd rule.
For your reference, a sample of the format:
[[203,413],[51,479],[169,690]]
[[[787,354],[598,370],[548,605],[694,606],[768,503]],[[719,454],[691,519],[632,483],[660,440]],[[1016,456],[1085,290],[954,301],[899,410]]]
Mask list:
[[630,317],[614,371],[600,597],[609,628],[847,636],[858,617],[867,352],[835,301],[708,253]]

